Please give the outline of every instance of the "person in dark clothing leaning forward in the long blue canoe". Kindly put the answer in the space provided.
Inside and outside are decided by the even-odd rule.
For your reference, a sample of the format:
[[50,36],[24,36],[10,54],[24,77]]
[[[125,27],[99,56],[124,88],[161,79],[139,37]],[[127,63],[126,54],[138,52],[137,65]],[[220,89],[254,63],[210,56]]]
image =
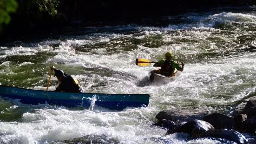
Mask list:
[[78,80],[71,75],[66,74],[62,70],[56,69],[54,66],[50,68],[55,72],[53,77],[56,77],[60,84],[56,88],[56,92],[83,92]]

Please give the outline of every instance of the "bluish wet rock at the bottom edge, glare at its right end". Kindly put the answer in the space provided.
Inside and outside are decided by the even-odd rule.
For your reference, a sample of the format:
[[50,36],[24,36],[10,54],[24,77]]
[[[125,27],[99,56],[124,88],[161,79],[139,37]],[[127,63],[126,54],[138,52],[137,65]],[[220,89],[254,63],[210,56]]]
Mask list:
[[224,138],[237,144],[248,144],[248,140],[239,132],[234,130],[209,130],[205,131],[202,137]]

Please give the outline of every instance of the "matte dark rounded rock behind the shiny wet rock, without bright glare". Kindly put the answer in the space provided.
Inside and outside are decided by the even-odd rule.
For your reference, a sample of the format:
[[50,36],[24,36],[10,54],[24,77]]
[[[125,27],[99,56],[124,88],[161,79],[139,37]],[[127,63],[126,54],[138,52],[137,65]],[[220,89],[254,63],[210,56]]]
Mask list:
[[203,120],[213,125],[215,129],[232,129],[235,126],[233,117],[219,112],[208,114]]

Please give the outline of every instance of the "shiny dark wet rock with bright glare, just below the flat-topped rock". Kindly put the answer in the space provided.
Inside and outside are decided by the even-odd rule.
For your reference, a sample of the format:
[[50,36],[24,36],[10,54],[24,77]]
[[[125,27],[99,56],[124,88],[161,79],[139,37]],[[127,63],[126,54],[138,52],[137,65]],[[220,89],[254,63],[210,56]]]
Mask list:
[[[214,130],[214,127],[203,120],[191,120],[181,126],[179,126],[174,132],[184,132],[190,134],[193,138],[198,138],[203,135],[205,131]],[[171,131],[167,131],[166,135],[172,134]]]

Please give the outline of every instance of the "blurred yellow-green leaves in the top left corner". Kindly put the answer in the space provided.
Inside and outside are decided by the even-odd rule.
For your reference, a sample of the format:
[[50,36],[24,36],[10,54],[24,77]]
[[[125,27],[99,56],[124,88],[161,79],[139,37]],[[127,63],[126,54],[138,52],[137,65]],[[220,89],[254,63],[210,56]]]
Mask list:
[[0,0],[0,26],[8,24],[11,20],[9,13],[16,12],[18,4],[15,0]]

